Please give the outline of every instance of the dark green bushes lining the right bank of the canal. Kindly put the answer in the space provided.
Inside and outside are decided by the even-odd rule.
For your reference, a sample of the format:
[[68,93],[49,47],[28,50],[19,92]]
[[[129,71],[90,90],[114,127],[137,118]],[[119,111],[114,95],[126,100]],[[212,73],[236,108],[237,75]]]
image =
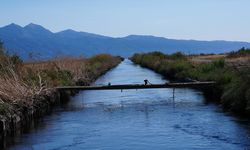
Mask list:
[[[243,52],[240,50],[235,53]],[[194,63],[180,52],[172,55],[161,52],[134,54],[131,60],[170,80],[216,81],[213,89],[204,89],[206,95],[214,96],[224,108],[240,114],[250,114],[249,68],[239,69],[227,64],[222,58],[207,63]]]

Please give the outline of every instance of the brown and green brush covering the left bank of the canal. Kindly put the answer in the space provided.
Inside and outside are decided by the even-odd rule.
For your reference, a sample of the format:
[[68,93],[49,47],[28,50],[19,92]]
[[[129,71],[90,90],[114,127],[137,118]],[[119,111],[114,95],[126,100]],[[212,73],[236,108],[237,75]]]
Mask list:
[[0,115],[36,106],[37,97],[50,97],[53,87],[88,85],[121,60],[100,54],[24,63],[18,56],[7,54],[0,43]]

